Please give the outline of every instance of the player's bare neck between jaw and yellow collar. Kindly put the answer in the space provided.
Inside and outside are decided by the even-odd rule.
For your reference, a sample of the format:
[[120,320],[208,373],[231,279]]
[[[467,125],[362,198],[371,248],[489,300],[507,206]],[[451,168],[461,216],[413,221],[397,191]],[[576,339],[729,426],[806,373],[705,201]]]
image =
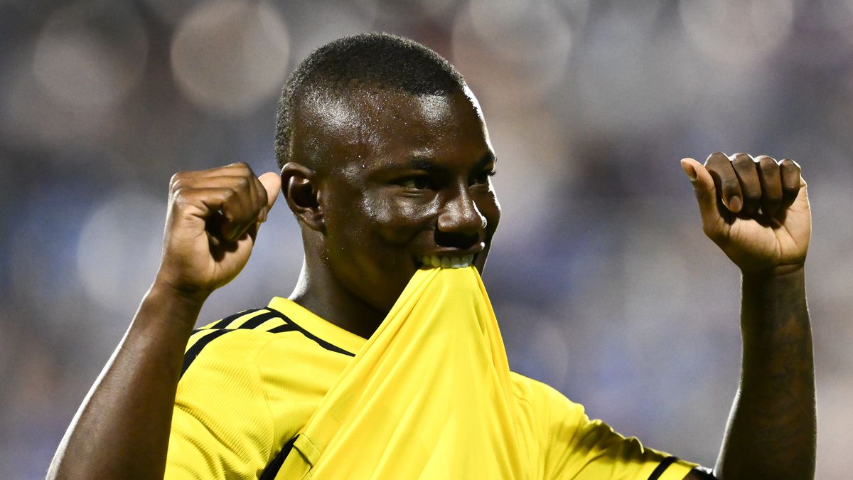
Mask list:
[[388,313],[345,290],[330,275],[328,269],[312,267],[306,259],[293,293],[287,298],[345,331],[369,338]]

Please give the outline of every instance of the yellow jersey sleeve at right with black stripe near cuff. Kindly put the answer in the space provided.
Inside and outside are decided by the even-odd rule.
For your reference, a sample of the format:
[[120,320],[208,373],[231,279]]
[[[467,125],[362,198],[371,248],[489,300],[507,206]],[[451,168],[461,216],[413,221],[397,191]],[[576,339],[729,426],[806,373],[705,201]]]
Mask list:
[[590,420],[583,406],[544,383],[532,399],[542,435],[543,477],[554,479],[681,480],[695,464],[644,447],[601,420]]

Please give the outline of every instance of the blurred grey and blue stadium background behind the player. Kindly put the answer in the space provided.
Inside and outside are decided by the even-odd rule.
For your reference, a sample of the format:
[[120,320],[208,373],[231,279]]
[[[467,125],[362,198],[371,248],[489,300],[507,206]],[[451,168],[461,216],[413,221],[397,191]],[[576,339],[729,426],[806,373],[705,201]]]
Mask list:
[[[818,477],[849,476],[853,0],[0,0],[0,477],[44,477],[154,278],[171,174],[275,170],[287,75],[365,31],[427,44],[479,96],[514,370],[704,465],[738,382],[740,277],[678,161],[797,160]],[[200,323],[287,296],[300,264],[280,204]]]

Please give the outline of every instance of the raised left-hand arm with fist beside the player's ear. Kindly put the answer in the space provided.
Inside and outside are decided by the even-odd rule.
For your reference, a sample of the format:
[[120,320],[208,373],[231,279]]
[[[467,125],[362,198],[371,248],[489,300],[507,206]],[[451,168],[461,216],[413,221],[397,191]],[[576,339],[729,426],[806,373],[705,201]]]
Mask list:
[[246,265],[280,185],[245,163],[172,177],[160,270],[48,478],[163,477],[184,346],[207,296]]

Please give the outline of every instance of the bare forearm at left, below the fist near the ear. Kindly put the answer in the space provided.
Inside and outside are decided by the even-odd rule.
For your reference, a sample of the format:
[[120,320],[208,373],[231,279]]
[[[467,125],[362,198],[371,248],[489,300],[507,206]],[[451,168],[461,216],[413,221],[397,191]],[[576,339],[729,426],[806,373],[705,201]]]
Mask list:
[[163,476],[183,349],[201,304],[148,291],[68,427],[49,478]]

